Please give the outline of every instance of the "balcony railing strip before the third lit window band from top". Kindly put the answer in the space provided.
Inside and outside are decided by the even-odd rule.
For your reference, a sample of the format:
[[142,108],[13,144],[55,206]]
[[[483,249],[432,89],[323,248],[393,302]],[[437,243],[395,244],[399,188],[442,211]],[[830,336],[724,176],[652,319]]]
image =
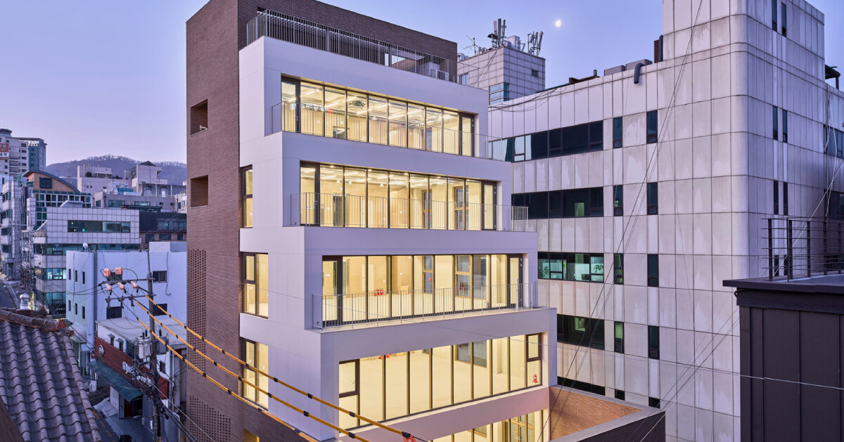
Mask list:
[[387,321],[445,319],[456,315],[548,306],[547,290],[536,283],[484,287],[396,290],[376,289],[361,294],[314,294],[313,327],[326,331],[339,326],[378,325]]

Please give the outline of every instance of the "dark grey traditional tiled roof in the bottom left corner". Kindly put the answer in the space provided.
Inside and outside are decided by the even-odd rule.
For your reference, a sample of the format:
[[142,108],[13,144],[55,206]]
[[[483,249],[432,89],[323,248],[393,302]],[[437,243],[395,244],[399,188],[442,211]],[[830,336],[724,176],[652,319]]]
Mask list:
[[70,335],[62,321],[0,310],[0,398],[24,440],[101,440]]

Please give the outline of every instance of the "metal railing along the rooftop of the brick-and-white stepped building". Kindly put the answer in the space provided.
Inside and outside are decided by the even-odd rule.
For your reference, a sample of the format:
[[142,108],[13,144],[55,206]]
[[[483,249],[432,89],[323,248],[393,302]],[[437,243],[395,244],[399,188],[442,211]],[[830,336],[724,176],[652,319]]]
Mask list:
[[247,45],[263,36],[457,83],[455,60],[338,30],[285,13],[261,11],[246,24]]

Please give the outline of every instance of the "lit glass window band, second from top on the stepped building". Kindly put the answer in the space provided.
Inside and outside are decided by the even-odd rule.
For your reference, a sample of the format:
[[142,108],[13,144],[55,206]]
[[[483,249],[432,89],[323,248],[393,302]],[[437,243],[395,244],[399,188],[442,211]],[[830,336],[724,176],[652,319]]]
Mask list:
[[[318,177],[318,179],[317,179]],[[495,183],[333,164],[300,166],[300,224],[495,229]]]

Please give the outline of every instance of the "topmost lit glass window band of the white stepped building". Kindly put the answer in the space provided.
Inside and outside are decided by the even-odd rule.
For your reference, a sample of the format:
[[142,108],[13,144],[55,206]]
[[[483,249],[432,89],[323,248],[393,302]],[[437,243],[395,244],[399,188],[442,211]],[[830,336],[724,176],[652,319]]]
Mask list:
[[474,154],[473,116],[294,79],[282,80],[281,91],[284,132]]

